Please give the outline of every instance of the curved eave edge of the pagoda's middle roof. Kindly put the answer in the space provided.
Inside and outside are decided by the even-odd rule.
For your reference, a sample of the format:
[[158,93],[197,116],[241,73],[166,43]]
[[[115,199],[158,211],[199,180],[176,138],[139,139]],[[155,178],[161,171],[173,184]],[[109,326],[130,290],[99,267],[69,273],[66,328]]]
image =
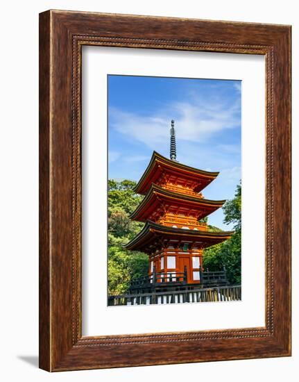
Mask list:
[[178,192],[166,190],[165,188],[152,184],[151,188],[146,193],[146,196],[144,199],[142,199],[142,202],[132,213],[132,215],[130,215],[130,219],[144,222],[149,215],[144,215],[144,210],[149,211],[148,207],[151,206],[153,202],[155,202],[157,197],[161,197],[165,201],[173,201],[173,203],[177,204],[184,204],[185,202],[185,204],[189,205],[190,207],[193,206],[193,208],[198,208],[198,210],[200,210],[200,208],[209,209],[209,211],[207,211],[206,214],[203,214],[203,216],[200,218],[209,215],[210,213],[223,206],[225,203],[225,200],[210,200],[194,197],[187,194],[180,194]]

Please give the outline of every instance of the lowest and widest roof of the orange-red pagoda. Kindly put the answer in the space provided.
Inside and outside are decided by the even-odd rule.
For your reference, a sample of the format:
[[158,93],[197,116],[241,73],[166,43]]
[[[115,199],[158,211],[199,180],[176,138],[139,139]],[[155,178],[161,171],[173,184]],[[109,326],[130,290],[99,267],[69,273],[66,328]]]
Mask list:
[[231,238],[233,233],[234,231],[195,231],[146,222],[142,231],[124,247],[131,251],[151,253],[163,242],[172,244],[188,242],[201,248],[207,248]]

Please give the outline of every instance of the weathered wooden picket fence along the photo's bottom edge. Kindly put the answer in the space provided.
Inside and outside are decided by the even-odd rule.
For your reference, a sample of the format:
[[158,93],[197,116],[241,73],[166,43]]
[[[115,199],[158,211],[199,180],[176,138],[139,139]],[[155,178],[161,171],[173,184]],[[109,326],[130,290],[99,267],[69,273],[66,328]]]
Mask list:
[[110,296],[109,306],[184,304],[192,302],[238,301],[241,300],[241,285],[194,290],[174,290],[169,292],[151,292]]

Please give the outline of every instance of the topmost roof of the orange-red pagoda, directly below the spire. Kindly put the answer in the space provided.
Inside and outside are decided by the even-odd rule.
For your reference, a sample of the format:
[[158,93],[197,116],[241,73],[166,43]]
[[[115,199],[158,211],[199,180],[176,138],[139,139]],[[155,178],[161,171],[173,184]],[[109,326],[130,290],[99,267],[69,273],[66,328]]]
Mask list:
[[150,163],[135,186],[134,191],[138,194],[146,194],[151,187],[151,184],[156,183],[157,178],[160,177],[163,170],[198,181],[199,187],[197,192],[203,190],[203,188],[205,188],[219,174],[219,172],[208,172],[203,169],[196,169],[194,167],[183,165],[176,160],[165,158],[160,153],[157,153],[157,151],[153,151]]

